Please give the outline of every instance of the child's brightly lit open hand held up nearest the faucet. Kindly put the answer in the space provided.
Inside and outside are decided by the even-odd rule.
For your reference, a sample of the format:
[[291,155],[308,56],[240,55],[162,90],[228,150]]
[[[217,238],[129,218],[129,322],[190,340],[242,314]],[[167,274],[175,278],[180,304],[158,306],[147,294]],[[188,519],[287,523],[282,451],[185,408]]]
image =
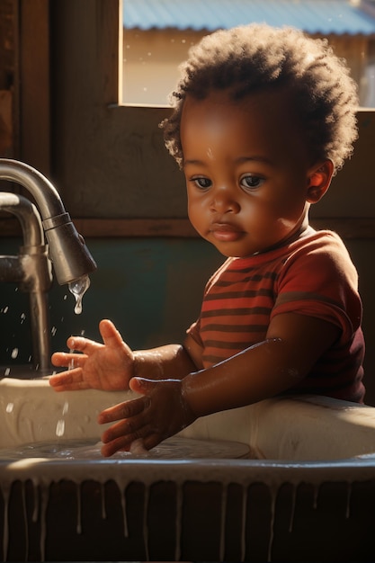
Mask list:
[[99,328],[104,344],[71,336],[67,339],[67,346],[81,353],[58,352],[52,355],[54,365],[69,368],[49,378],[49,384],[56,391],[129,389],[134,355],[110,320],[102,320]]

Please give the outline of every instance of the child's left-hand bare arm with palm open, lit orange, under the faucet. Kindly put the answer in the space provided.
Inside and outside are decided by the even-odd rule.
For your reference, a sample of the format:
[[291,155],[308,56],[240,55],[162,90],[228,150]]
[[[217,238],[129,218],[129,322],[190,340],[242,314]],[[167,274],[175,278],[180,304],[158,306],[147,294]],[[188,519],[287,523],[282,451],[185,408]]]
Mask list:
[[150,379],[183,378],[196,370],[190,355],[180,344],[133,352],[111,321],[102,320],[99,328],[103,344],[71,336],[67,346],[80,353],[52,355],[54,365],[70,368],[49,378],[55,390],[122,390],[129,389],[129,380],[134,375]]

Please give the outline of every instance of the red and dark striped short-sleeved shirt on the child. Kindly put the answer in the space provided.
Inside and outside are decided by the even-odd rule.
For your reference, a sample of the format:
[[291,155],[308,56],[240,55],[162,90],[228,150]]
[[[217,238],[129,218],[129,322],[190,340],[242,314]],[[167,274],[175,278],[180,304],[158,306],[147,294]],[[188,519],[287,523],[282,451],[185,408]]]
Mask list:
[[362,302],[358,275],[344,243],[331,231],[308,229],[288,246],[228,258],[207,283],[201,315],[188,334],[201,345],[205,368],[261,342],[281,313],[318,317],[340,339],[291,389],[362,402]]

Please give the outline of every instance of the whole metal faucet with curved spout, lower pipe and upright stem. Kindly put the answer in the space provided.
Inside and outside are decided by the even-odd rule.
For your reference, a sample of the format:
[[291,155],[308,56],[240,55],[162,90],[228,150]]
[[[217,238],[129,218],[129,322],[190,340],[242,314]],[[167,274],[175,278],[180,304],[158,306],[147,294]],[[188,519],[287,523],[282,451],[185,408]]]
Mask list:
[[23,237],[18,256],[0,256],[0,281],[19,283],[21,290],[30,293],[33,363],[35,369],[45,371],[50,367],[48,290],[52,282],[51,263],[58,283],[68,283],[69,286],[87,280],[96,264],[58,191],[43,174],[17,160],[0,158],[0,180],[20,183],[36,202],[35,206],[22,195],[0,192],[0,209],[19,219]]

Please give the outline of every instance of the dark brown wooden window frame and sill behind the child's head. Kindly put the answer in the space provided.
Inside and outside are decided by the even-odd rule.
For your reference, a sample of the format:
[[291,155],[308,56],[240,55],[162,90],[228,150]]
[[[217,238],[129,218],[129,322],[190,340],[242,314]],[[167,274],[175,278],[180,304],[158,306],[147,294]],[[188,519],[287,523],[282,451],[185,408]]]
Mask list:
[[[186,215],[183,174],[167,154],[158,127],[170,109],[119,103],[121,4],[21,2],[26,23],[20,27],[20,158],[55,183],[85,237],[195,237]],[[41,78],[36,21],[44,37],[37,41]],[[353,159],[312,209],[314,227],[333,228],[346,238],[375,237],[373,204],[366,197],[353,198],[359,178],[362,191],[369,197],[372,192],[374,112],[359,110]]]

